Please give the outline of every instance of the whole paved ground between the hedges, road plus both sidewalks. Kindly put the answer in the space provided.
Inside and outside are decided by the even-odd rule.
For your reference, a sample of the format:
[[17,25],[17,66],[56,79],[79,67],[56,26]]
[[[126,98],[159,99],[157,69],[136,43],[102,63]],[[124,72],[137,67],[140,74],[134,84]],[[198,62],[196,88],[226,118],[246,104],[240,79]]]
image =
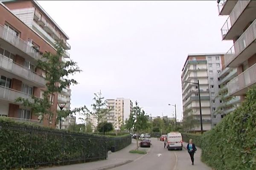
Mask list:
[[136,148],[136,140],[133,139],[129,146],[109,154],[107,160],[42,168],[42,170],[212,170],[201,162],[200,148],[197,148],[195,162],[192,165],[185,148],[186,142],[183,143],[183,150],[171,151],[164,148],[163,142],[156,138],[151,138],[151,143],[150,148],[143,148],[148,152],[145,155],[129,153]]

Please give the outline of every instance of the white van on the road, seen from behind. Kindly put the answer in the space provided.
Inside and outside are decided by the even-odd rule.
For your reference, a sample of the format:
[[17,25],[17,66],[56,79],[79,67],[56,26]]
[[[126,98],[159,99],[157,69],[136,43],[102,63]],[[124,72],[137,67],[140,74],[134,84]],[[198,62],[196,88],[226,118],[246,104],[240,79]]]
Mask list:
[[167,149],[182,150],[182,136],[179,132],[170,132],[167,134]]

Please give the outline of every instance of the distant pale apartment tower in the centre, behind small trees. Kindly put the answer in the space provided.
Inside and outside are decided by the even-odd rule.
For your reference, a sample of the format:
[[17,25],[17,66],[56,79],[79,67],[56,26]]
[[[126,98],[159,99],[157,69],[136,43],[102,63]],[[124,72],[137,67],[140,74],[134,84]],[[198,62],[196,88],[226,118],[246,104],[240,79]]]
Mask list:
[[112,123],[115,130],[120,130],[125,120],[129,119],[133,103],[130,99],[124,98],[107,99],[107,106],[111,109],[106,116],[107,122]]

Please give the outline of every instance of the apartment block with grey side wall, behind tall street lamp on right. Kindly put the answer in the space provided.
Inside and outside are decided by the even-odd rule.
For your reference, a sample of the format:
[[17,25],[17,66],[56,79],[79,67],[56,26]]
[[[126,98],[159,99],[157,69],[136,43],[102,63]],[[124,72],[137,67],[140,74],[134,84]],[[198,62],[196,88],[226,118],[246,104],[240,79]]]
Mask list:
[[219,107],[218,75],[221,73],[223,55],[214,54],[189,54],[182,69],[182,96],[183,120],[190,122],[188,131],[200,131],[200,105],[198,93],[198,80],[201,96],[201,111],[203,130],[210,130],[220,120],[220,115],[215,115]]

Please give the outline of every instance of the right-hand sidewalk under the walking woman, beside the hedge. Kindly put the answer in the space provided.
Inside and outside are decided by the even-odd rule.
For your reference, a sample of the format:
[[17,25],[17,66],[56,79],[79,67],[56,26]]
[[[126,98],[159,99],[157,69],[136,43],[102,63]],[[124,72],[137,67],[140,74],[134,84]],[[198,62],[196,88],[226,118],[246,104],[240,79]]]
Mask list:
[[[187,152],[186,146],[188,143],[183,142],[183,148]],[[197,151],[195,152],[194,155],[194,165],[191,165],[190,157],[189,154],[187,153],[184,156],[179,156],[178,157],[178,162],[177,162],[177,170],[186,170],[189,168],[189,170],[212,170],[211,167],[208,167],[207,164],[201,161],[201,148],[196,147]]]

